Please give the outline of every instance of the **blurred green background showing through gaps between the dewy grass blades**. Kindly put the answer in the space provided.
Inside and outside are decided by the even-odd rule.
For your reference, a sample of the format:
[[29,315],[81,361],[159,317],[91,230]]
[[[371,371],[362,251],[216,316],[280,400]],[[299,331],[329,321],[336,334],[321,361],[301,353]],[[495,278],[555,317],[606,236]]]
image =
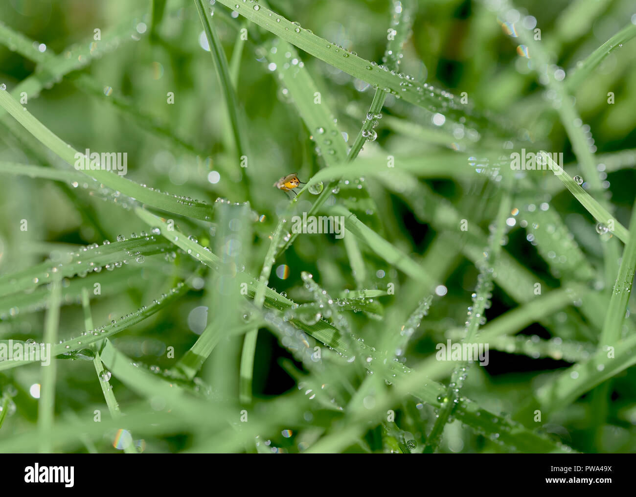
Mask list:
[[[214,6],[215,26],[228,59],[232,58],[237,46],[239,30],[247,26],[249,32],[240,57],[236,86],[240,105],[247,116],[250,156],[246,170],[237,167],[226,105],[214,65],[205,50],[207,40],[201,20],[191,2],[184,1],[182,6],[173,8],[175,4],[169,3],[157,25],[151,15],[152,9],[157,8],[155,4],[124,0],[107,3],[8,0],[0,6],[0,20],[13,31],[34,40],[41,53],[68,54],[69,58],[76,56],[69,47],[92,43],[93,30],[100,29],[103,39],[104,33],[120,26],[125,34],[115,37],[110,53],[91,60],[83,69],[67,74],[54,84],[46,84],[41,94],[27,95],[25,106],[79,151],[89,148],[92,151],[126,152],[127,177],[135,182],[207,203],[214,203],[219,197],[249,201],[260,220],[254,223],[253,236],[250,235],[251,240],[247,241],[252,245],[251,256],[242,264],[246,272],[258,275],[270,233],[289,202],[284,193],[271,187],[272,183],[291,172],[297,172],[301,180],[307,181],[322,167],[323,159],[315,153],[311,139],[314,130],[307,130],[293,100],[277,83],[266,60],[256,53],[259,43],[270,36],[252,24],[245,25],[241,17],[217,3]],[[272,0],[269,4],[273,11],[300,22],[303,27],[347,50],[355,50],[360,57],[378,62],[382,58],[390,19],[387,1]],[[579,60],[630,22],[630,18],[632,22],[634,20],[633,3],[628,0],[525,1],[516,8],[520,23],[532,24],[534,19],[541,29],[544,50],[568,73]],[[155,20],[157,18],[155,15]],[[635,43],[632,40],[609,54],[573,93],[584,125],[593,131],[593,142],[588,140],[588,143],[597,156],[635,148]],[[517,55],[515,44],[484,3],[469,0],[417,2],[413,34],[404,45],[401,71],[446,88],[455,95],[467,92],[476,108],[506,116],[520,130],[520,135],[543,144],[546,150],[563,152],[566,164],[575,163],[567,133],[546,98],[547,90],[537,83],[535,73],[529,69],[529,59]],[[11,40],[5,39],[0,46],[0,81],[12,89],[33,74],[36,79],[46,77],[38,72],[38,64],[24,57],[15,47],[11,49]],[[335,111],[340,130],[347,133],[351,145],[371,104],[373,88],[305,53],[301,52],[301,58],[320,89],[322,99]],[[169,92],[174,93],[174,104],[167,103]],[[607,92],[614,93],[616,104],[607,103]],[[378,138],[373,144],[365,145],[361,157],[386,152],[417,160],[453,149],[452,140],[439,139],[435,134],[437,129],[431,124],[431,112],[410,106],[393,95],[388,95],[382,112],[384,118],[380,119],[377,128]],[[414,125],[421,126],[421,130]],[[20,126],[6,113],[0,128],[0,161],[59,167],[59,159],[24,130],[18,130],[17,134],[12,132]],[[485,130],[478,132],[485,134]],[[470,155],[469,150],[459,151],[464,152],[466,157]],[[614,206],[616,219],[628,226],[636,191],[633,187],[636,153],[630,152],[619,163],[619,167],[611,171],[610,168],[607,172],[599,169],[601,179],[606,182],[602,195]],[[469,170],[468,162],[464,169]],[[466,213],[462,217],[465,215],[478,221],[481,229],[488,232],[488,226],[497,214],[499,185],[496,182],[470,170],[468,174],[425,177],[420,181],[448,199],[458,212]],[[546,187],[549,181],[551,187],[558,183],[555,178],[547,178],[545,183],[537,182],[534,190],[523,191],[513,205],[524,211],[528,205],[536,205],[538,209],[542,203],[549,203],[595,269],[593,275],[581,279],[598,292],[609,291],[602,276],[604,242],[595,232],[595,222],[568,191]],[[445,332],[463,326],[479,270],[452,240],[446,250],[429,251],[445,232],[421,219],[403,196],[370,179],[365,181],[365,189],[375,207],[363,208],[360,218],[415,261],[425,262],[426,268],[437,268],[437,276],[447,291],[443,298],[434,301],[429,316],[424,318],[411,339],[404,360],[408,365],[417,365],[434,353],[436,343],[445,341]],[[75,186],[4,175],[0,191],[4,207],[0,219],[0,271],[3,275],[29,268],[46,257],[55,257],[56,253],[77,250],[82,245],[101,245],[102,240],[112,242],[120,234],[128,237],[133,232],[148,231],[139,219],[127,215],[113,201],[95,198],[81,184]],[[338,195],[334,197],[339,202]],[[28,231],[20,230],[22,219],[28,220]],[[196,233],[202,245],[214,247],[214,229],[210,226],[188,219],[178,221],[178,224],[184,233]],[[516,224],[507,235],[505,250],[536,276],[537,281],[546,282],[549,288],[560,287],[565,281],[563,278],[569,275],[551,271],[536,243],[532,243],[529,232],[530,229]],[[443,245],[438,248],[440,246]],[[397,271],[366,247],[362,250],[368,272],[364,288],[385,290],[388,282],[394,282],[398,289],[406,287],[410,275]],[[104,296],[92,300],[95,322],[108,322],[137,309],[152,301],[157,289],[165,289],[177,278],[189,275],[195,266],[182,252],[175,250],[176,259],[170,261],[158,256],[158,262],[152,262],[151,257],[147,257],[142,264],[131,263],[113,273],[86,276],[86,282],[89,282],[90,278],[101,281],[102,276],[113,275],[112,284],[102,285]],[[278,292],[286,292],[298,303],[310,301],[312,296],[303,288],[301,271],[314,275],[321,287],[333,296],[345,290],[359,289],[344,244],[329,236],[299,236],[275,262],[269,285]],[[209,305],[206,289],[198,283],[197,286],[168,310],[114,336],[114,346],[135,362],[153,369],[173,367],[174,359],[166,357],[167,347],[174,347],[175,357],[181,357],[204,329],[206,313],[208,317],[211,314],[205,310]],[[421,297],[427,289],[420,291]],[[395,296],[378,300],[385,310],[382,313],[396,308],[404,322],[412,309],[401,308],[400,299],[398,290]],[[415,302],[417,299],[416,296]],[[70,336],[71,330],[82,329],[84,320],[77,299],[65,304],[60,320],[62,338]],[[515,299],[495,285],[492,307],[487,311],[488,321],[517,305]],[[2,310],[0,338],[39,339],[44,312],[11,311],[14,307],[8,305]],[[563,310],[555,314],[555,323],[570,323],[567,327],[563,324],[563,339],[587,344],[589,350],[594,350],[598,329],[576,308],[570,308],[570,313],[574,313],[579,322],[570,323],[570,315]],[[382,322],[374,322],[367,313],[349,313],[347,317],[356,336],[364,337],[367,343],[377,343],[382,333],[389,332]],[[556,336],[560,336],[558,327],[548,329],[535,323],[522,330],[520,343],[532,341],[531,337],[547,340]],[[222,350],[215,350],[205,365],[204,376],[213,388],[221,388],[219,382],[223,381],[238,385],[236,375],[242,341],[223,343]],[[515,353],[492,351],[488,367],[474,366],[471,370],[467,395],[478,398],[482,407],[497,414],[514,416],[542,375],[550,375],[574,362],[535,357],[535,353],[532,347],[524,349],[523,346]],[[214,362],[219,355],[226,355],[225,364],[235,371],[230,374],[216,369]],[[577,349],[577,358],[580,357],[585,357],[581,348]],[[261,329],[254,360],[254,397],[267,400],[298,390],[298,381],[290,376],[288,367],[283,367],[293,360],[293,354],[280,346],[272,333]],[[70,419],[71,412],[86,416],[86,412],[93,409],[104,409],[104,398],[92,365],[79,360],[58,362],[55,409],[59,419]],[[300,362],[294,364],[303,369]],[[0,439],[34,426],[37,401],[29,394],[29,387],[39,383],[40,373],[39,367],[30,365],[0,374],[2,385],[6,388],[12,385],[18,391],[13,397],[17,414],[4,422]],[[219,375],[224,374],[232,378],[219,380]],[[602,414],[593,412],[597,404],[583,398],[531,428],[540,428],[553,440],[578,451],[633,452],[636,448],[634,374],[632,367],[611,381],[604,404],[606,411]],[[355,391],[361,378],[350,381],[350,388]],[[120,379],[113,376],[111,385],[122,409],[137,400],[137,395]],[[404,399],[403,402],[410,401]],[[398,416],[399,428],[396,428],[402,440],[405,432],[418,441],[425,439],[434,421],[432,410],[425,407],[402,408],[402,414]],[[335,426],[332,423],[335,421],[328,418],[321,429],[330,433]],[[281,435],[280,430],[291,426],[279,428],[263,433],[263,437],[272,440],[271,447],[299,451],[300,437],[287,437],[284,432]],[[297,429],[300,433],[303,429],[310,431],[307,426],[294,426],[293,432]],[[382,451],[382,442],[378,442],[379,435],[374,430],[380,428],[370,429],[361,440],[352,442],[345,449]],[[396,435],[397,439],[400,436]],[[174,430],[146,436],[143,445],[146,451],[152,452],[183,451],[200,447],[198,444],[202,439],[197,437],[190,430]],[[303,443],[310,446],[309,442]],[[422,446],[421,442],[419,446]],[[118,451],[107,437],[96,442],[96,449]],[[69,450],[86,451],[86,447],[71,444]],[[455,421],[446,427],[440,450],[488,452],[506,451],[509,447],[501,447],[488,436],[474,433]]]

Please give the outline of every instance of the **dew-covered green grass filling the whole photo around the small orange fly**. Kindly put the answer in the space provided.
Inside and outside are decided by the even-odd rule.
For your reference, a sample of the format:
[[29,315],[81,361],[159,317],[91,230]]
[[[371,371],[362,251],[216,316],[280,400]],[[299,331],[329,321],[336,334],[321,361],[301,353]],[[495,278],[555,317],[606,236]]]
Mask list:
[[636,448],[626,6],[115,4],[0,10],[0,451]]

